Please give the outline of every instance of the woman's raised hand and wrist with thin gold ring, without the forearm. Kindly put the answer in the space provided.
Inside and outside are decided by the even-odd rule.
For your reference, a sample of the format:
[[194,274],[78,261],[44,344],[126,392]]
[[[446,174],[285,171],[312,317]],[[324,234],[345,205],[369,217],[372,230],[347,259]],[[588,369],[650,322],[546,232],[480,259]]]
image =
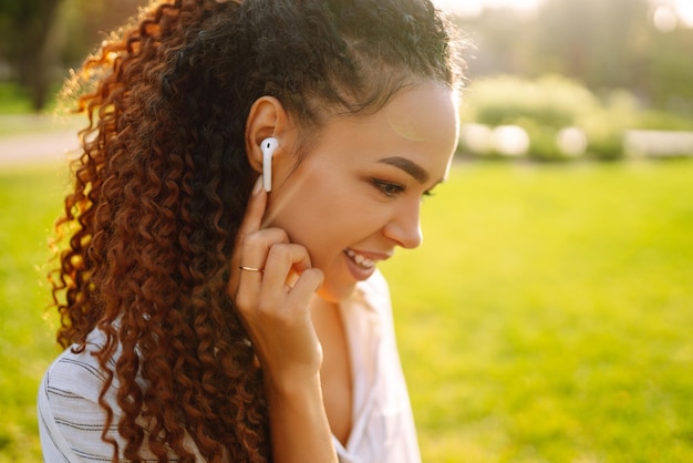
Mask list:
[[261,228],[267,207],[261,183],[260,177],[240,225],[228,291],[268,385],[285,391],[319,374],[322,351],[309,306],[323,277],[311,267],[308,250],[290,243],[285,230]]

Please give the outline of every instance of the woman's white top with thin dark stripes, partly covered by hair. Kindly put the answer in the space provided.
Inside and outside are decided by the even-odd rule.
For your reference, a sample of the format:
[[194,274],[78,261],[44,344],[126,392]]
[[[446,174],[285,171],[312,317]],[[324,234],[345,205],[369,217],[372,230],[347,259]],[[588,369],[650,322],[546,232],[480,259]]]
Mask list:
[[[376,272],[360,284],[340,310],[354,379],[353,428],[346,445],[334,439],[340,462],[420,463],[414,419],[395,344],[390,294],[382,275]],[[99,394],[104,375],[91,354],[102,342],[103,335],[94,331],[84,352],[65,350],[45,372],[38,411],[46,463],[111,461],[113,446],[101,438],[105,411],[99,405]],[[120,418],[117,387],[114,379],[105,399],[114,411],[108,436],[118,441],[122,450],[123,440],[115,429]],[[143,425],[146,429],[146,423]],[[186,447],[204,462],[189,436]],[[156,461],[147,452],[146,440],[142,453],[145,462]],[[169,461],[177,459],[172,454]]]

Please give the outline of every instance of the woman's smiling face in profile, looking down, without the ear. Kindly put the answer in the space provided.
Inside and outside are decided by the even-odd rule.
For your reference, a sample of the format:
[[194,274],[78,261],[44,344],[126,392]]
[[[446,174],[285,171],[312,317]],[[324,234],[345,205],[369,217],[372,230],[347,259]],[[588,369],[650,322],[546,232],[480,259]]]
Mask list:
[[396,247],[421,245],[421,200],[457,145],[455,96],[435,83],[406,89],[373,115],[332,119],[298,166],[275,160],[266,226],[308,249],[323,299],[349,297]]

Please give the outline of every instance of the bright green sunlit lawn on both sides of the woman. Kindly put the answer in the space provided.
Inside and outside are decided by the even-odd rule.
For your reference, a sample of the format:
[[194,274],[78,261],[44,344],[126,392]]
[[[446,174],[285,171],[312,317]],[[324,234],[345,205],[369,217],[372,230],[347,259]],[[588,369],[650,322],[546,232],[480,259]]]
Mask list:
[[[465,164],[387,263],[425,462],[693,461],[693,162]],[[0,462],[39,462],[63,177],[0,173]],[[52,321],[50,321],[52,320]]]

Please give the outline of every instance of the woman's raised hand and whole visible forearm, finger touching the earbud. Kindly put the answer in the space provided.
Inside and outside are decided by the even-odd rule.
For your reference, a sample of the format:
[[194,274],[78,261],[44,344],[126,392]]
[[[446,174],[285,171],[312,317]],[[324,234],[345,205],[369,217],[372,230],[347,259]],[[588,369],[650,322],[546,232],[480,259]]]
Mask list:
[[240,225],[228,291],[263,369],[273,461],[337,463],[320,385],[322,349],[310,318],[322,271],[286,232],[262,228],[261,185],[260,177]]

